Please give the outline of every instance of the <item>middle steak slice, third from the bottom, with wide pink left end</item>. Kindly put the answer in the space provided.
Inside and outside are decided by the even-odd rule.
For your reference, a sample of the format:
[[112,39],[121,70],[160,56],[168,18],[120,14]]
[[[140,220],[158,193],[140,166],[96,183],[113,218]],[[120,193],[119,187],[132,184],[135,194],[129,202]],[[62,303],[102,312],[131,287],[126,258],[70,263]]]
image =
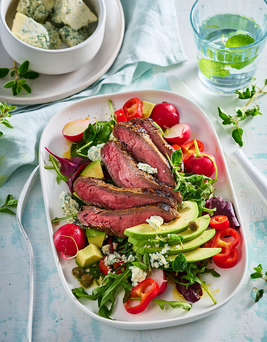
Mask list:
[[136,167],[137,162],[126,151],[125,145],[110,140],[101,147],[101,158],[113,181],[122,188],[158,189],[169,193],[178,203],[181,203],[182,197],[179,191],[174,191],[173,186],[155,180]]

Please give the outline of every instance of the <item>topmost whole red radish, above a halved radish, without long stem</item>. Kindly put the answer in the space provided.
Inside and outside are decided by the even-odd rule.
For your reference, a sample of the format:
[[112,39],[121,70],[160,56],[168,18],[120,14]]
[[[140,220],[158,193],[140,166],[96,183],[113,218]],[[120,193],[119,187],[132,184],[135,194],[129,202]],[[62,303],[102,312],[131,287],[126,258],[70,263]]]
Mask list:
[[179,123],[180,114],[174,105],[162,102],[155,105],[149,118],[165,130]]

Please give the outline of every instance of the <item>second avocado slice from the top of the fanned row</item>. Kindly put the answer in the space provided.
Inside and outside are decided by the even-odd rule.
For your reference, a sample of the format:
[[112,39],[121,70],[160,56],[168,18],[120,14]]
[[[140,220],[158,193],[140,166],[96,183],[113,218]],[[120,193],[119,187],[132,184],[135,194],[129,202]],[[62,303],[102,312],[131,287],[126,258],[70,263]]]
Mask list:
[[[201,216],[199,218],[196,219],[196,222],[198,222],[199,224],[199,229],[195,232],[191,231],[191,229],[187,228],[185,231],[179,233],[179,235],[181,235],[183,237],[183,243],[190,241],[194,238],[196,238],[197,236],[201,235],[206,228],[208,227],[209,221],[211,220],[211,218],[209,217],[209,215],[204,215]],[[151,246],[151,247],[155,247],[155,245],[158,244],[158,240],[156,239],[135,239],[132,237],[128,238],[128,242],[130,242],[130,244],[135,245],[135,246]],[[174,246],[177,245],[177,241],[175,240],[167,240],[166,244],[169,246]]]

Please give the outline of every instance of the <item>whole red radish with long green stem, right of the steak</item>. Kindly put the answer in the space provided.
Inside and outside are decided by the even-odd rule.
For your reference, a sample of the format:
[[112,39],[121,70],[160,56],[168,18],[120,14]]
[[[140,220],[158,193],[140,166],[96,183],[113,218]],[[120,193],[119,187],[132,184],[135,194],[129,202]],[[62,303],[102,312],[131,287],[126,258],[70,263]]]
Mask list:
[[214,172],[215,182],[217,181],[218,171],[215,158],[212,154],[207,152],[200,152],[196,140],[194,140],[196,153],[192,154],[186,162],[186,172],[195,174],[204,174],[204,176],[211,177]]

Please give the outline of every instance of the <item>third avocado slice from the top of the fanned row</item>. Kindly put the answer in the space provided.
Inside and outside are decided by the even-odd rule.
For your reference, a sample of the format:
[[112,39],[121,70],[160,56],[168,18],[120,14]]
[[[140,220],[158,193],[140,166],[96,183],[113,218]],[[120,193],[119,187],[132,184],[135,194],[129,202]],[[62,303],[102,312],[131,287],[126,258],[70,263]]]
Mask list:
[[[179,253],[184,253],[191,251],[192,249],[195,249],[210,240],[213,236],[215,235],[215,229],[209,229],[208,231],[205,231],[203,234],[199,235],[198,237],[183,243],[182,245],[175,245],[175,246],[170,246],[171,248],[168,250],[168,255],[173,255],[173,254],[179,254]],[[140,254],[144,253],[156,253],[156,252],[161,252],[162,248],[161,247],[140,247],[140,246],[132,246],[133,250],[136,252],[139,252]]]

